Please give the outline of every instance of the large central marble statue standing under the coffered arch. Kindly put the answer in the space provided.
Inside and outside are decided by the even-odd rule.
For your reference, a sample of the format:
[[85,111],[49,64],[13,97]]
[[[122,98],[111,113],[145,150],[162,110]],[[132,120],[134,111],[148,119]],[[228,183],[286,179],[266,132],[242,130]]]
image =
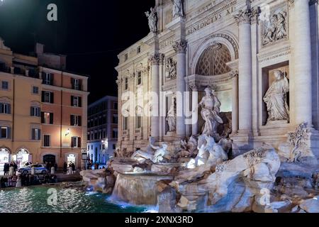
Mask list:
[[220,101],[210,87],[205,89],[206,96],[203,96],[199,106],[201,106],[201,117],[205,121],[202,134],[209,136],[216,135],[218,124],[223,123],[220,118]]

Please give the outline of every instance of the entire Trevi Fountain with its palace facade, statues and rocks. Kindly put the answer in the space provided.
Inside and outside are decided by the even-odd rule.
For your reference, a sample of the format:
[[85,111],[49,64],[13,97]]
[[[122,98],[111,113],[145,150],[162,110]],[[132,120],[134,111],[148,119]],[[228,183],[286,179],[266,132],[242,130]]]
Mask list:
[[150,108],[164,116],[119,113],[116,157],[84,182],[158,212],[319,212],[318,1],[163,0],[145,15],[150,33],[118,55],[119,109],[125,92],[170,91]]

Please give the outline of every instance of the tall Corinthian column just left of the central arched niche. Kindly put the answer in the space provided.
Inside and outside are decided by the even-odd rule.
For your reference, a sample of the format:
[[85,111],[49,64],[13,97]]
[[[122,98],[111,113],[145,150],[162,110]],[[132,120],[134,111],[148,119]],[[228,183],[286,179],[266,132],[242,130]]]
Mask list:
[[184,138],[186,135],[185,114],[184,114],[184,92],[186,76],[186,48],[185,41],[173,45],[177,52],[177,137]]

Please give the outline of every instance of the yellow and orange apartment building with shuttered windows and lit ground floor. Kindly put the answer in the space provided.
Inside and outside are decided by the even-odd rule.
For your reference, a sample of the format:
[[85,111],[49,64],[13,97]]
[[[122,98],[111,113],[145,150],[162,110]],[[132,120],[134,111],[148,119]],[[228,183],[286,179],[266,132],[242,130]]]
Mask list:
[[11,160],[82,167],[88,77],[54,63],[13,53],[0,38],[0,171]]

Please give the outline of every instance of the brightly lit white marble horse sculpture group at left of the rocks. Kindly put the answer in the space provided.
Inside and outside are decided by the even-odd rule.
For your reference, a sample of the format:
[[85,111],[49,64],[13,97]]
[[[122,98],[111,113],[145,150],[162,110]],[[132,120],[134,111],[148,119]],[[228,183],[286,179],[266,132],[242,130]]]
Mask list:
[[142,150],[137,150],[135,153],[132,155],[132,159],[137,160],[140,163],[144,163],[146,160],[151,160],[154,163],[160,163],[164,160],[164,155],[168,153],[167,148],[168,145],[166,143],[162,144],[162,147],[160,146],[155,146],[152,143],[154,140],[152,138],[150,140],[150,148],[155,150],[155,153],[152,153],[150,149],[147,149],[147,151],[142,151]]

